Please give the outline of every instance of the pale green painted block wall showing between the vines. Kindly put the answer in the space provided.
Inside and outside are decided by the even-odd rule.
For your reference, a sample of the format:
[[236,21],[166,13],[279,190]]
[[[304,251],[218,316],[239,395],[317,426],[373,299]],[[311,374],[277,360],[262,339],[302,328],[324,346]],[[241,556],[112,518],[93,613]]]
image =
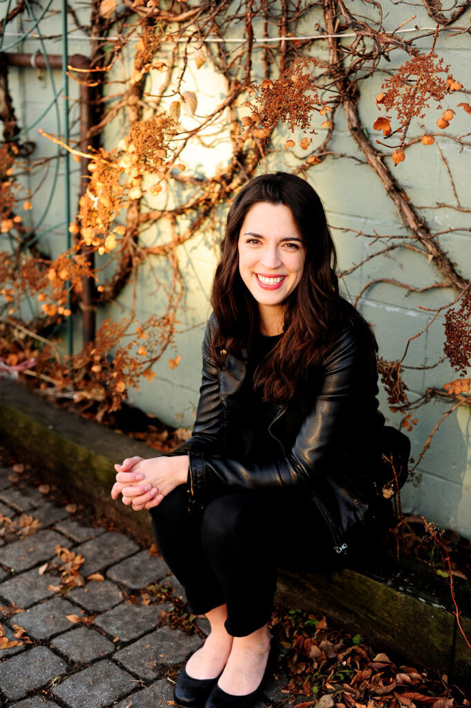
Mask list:
[[[390,0],[382,1],[385,16],[385,28],[392,30],[407,19],[401,4],[393,4]],[[414,6],[416,19],[414,23],[423,28],[431,28],[433,23],[426,11]],[[87,21],[87,8],[76,4],[79,17]],[[362,4],[362,13],[368,13],[369,8]],[[407,15],[409,16],[409,15]],[[59,18],[51,18],[48,24],[50,34],[59,33]],[[25,23],[18,18],[18,31],[24,30]],[[53,28],[53,30],[51,29]],[[311,34],[312,28],[302,28],[303,33]],[[242,28],[240,28],[242,32]],[[233,36],[241,36],[239,28],[232,28]],[[74,34],[78,37],[79,31]],[[87,42],[82,40],[69,40],[69,54],[87,54]],[[423,49],[428,50],[431,38],[424,38]],[[25,40],[16,51],[33,52],[41,49],[38,40]],[[59,53],[59,42],[45,42],[45,50]],[[453,32],[441,35],[437,50],[442,55],[453,75],[466,84],[466,79],[471,75],[471,52],[469,35],[467,33],[453,36]],[[325,40],[319,40],[314,51],[322,54],[327,51]],[[130,57],[128,57],[130,59]],[[392,54],[392,62],[387,69],[394,70],[407,59],[407,55]],[[191,64],[191,62],[190,62]],[[128,67],[129,68],[129,65]],[[122,72],[123,67],[116,69]],[[60,84],[59,72],[55,72],[57,84]],[[120,74],[121,76],[121,74]],[[373,139],[378,133],[373,131],[373,121],[378,115],[375,108],[374,96],[380,89],[380,84],[385,74],[375,76],[361,82],[361,118],[364,121]],[[153,91],[159,84],[156,73],[149,74],[149,90]],[[11,69],[10,88],[15,102],[18,118],[23,125],[30,125],[39,117],[51,98],[50,79],[44,73],[39,80],[32,69]],[[195,90],[198,93],[198,113],[204,114],[213,103],[225,95],[225,85],[220,76],[207,62],[203,69],[197,71],[189,67],[186,76],[186,90]],[[71,87],[72,91],[76,88]],[[460,98],[463,100],[463,98]],[[458,103],[458,101],[455,101]],[[454,105],[450,107],[454,108]],[[241,115],[246,110],[241,109]],[[441,115],[439,110],[431,108],[427,116],[427,125],[434,128],[436,119]],[[193,120],[193,119],[186,119]],[[57,124],[53,111],[50,111],[38,124],[44,130],[57,132]],[[103,144],[112,147],[125,130],[122,118],[110,123],[103,133]],[[470,117],[458,113],[453,120],[455,135],[463,135],[470,130]],[[421,129],[416,127],[416,134],[421,135]],[[380,134],[379,134],[380,135]],[[31,131],[31,139],[38,141],[38,147],[33,157],[47,156],[55,152],[55,147],[45,140],[38,139],[35,129]],[[283,146],[286,131],[280,129],[275,138],[278,147]],[[319,135],[314,139],[322,140]],[[453,141],[441,139],[438,141],[443,155],[446,157],[455,177],[456,190],[461,205],[470,207],[469,204],[469,178],[470,178],[470,151],[462,149]],[[208,174],[215,170],[218,164],[229,159],[229,141],[224,128],[220,129],[220,137],[214,149],[193,147],[193,152],[182,155],[188,169],[196,173]],[[356,145],[346,127],[346,121],[341,109],[336,114],[336,131],[331,149],[344,154],[361,158]],[[280,150],[268,157],[267,169],[290,170],[295,162],[290,154]],[[72,176],[72,204],[76,204],[74,194],[79,174],[75,163]],[[395,168],[395,176],[404,185],[415,205],[434,206],[436,203],[455,204],[453,191],[443,168],[443,163],[435,146],[424,148],[417,144],[407,152],[404,163]],[[319,166],[314,166],[307,173],[310,183],[316,188],[327,210],[329,222],[333,227],[334,240],[339,251],[341,268],[349,268],[353,263],[358,263],[369,253],[379,249],[378,244],[373,244],[373,239],[356,236],[352,231],[365,234],[404,234],[405,229],[395,212],[395,206],[387,197],[382,184],[375,173],[367,164],[348,159],[325,160]],[[31,183],[34,189],[36,185]],[[33,219],[45,204],[47,189],[50,180],[44,181],[33,197]],[[178,195],[175,196],[178,199]],[[215,224],[216,232],[222,234],[225,219],[224,209],[218,215],[219,224]],[[64,244],[64,227],[54,228],[63,220],[63,203],[60,188],[52,200],[50,209],[45,216],[43,228],[51,229],[44,237],[43,244],[48,244],[52,255],[59,252]],[[447,208],[423,209],[421,214],[430,224],[433,231],[441,231],[450,227],[469,227],[469,215]],[[158,243],[159,239],[166,236],[165,224],[152,227],[141,236],[148,244]],[[471,278],[471,236],[469,232],[453,232],[440,237],[440,242],[445,247],[453,261],[458,264],[458,270],[466,278]],[[382,244],[380,244],[382,245]],[[99,257],[98,262],[99,262]],[[169,424],[186,424],[191,426],[195,406],[198,401],[198,387],[200,380],[200,343],[203,337],[205,321],[210,314],[208,292],[217,259],[217,246],[214,235],[201,232],[191,241],[183,244],[178,249],[178,262],[183,276],[185,293],[178,311],[178,328],[176,334],[175,351],[168,351],[162,360],[154,366],[156,377],[152,383],[143,382],[139,392],[130,389],[129,399],[132,404],[154,413]],[[432,263],[427,263],[416,253],[398,249],[387,256],[380,256],[373,261],[368,261],[356,271],[344,278],[343,287],[346,295],[352,299],[365,283],[386,276],[397,278],[402,282],[409,282],[416,287],[423,287],[432,282],[438,282],[439,275]],[[143,263],[140,268],[140,278],[137,282],[137,310],[136,318],[144,320],[150,314],[155,314],[163,309],[166,298],[166,284],[171,278],[171,267],[166,261],[154,258],[149,263]],[[423,294],[406,295],[405,291],[393,285],[378,284],[371,287],[365,297],[361,299],[359,307],[365,317],[373,324],[380,346],[380,355],[388,360],[402,357],[407,338],[416,335],[426,326],[433,315],[432,312],[419,309],[422,307],[440,307],[447,304],[455,297],[450,290],[433,290]],[[112,316],[120,319],[130,312],[132,302],[131,287],[125,287],[115,303],[98,312],[98,322]],[[80,327],[79,320],[75,322],[75,346],[79,347]],[[405,365],[412,367],[406,369],[404,379],[409,388],[411,399],[419,396],[427,386],[441,387],[446,381],[455,377],[448,362],[430,370],[418,370],[413,367],[430,365],[443,356],[443,316],[439,316],[431,328],[421,337],[411,343]],[[175,353],[181,355],[181,362],[173,370],[169,367],[168,358]],[[399,425],[400,416],[392,413],[387,405],[385,392],[380,393],[381,409],[387,421]],[[446,411],[445,401],[435,401],[419,409],[417,417],[419,422],[409,435],[412,438],[412,455],[419,455],[433,426]],[[403,491],[402,501],[406,510],[424,514],[428,520],[435,521],[443,527],[452,527],[467,537],[471,537],[471,416],[470,409],[458,409],[446,418],[434,435],[431,449],[426,453],[418,469],[419,484],[407,484]]]

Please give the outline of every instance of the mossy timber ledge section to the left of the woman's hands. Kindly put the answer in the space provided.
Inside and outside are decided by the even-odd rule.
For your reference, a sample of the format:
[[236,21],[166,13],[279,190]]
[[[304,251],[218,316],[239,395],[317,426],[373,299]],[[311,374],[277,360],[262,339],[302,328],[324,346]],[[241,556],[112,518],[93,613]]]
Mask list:
[[137,514],[110,497],[115,462],[157,457],[153,447],[57,408],[23,384],[0,379],[0,441],[98,515],[137,539],[153,541],[149,514]]

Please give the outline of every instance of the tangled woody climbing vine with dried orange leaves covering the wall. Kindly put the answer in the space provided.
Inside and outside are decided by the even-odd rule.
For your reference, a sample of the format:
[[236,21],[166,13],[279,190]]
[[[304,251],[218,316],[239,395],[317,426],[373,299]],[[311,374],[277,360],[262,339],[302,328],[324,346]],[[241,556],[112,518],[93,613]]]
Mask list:
[[[426,326],[406,341],[398,333],[395,360],[379,361],[389,404],[412,430],[421,406],[432,399],[447,401],[448,411],[431,435],[457,407],[469,407],[469,268],[455,263],[441,237],[471,229],[452,226],[438,232],[427,215],[441,208],[471,212],[458,198],[456,164],[446,149],[458,145],[465,154],[471,145],[471,122],[464,132],[453,130],[458,114],[468,120],[471,113],[467,76],[441,55],[452,36],[463,35],[469,42],[465,11],[470,2],[453,9],[425,0],[407,4],[397,27],[388,25],[387,5],[368,1],[360,7],[344,0],[126,0],[118,5],[93,0],[84,27],[72,4],[73,29],[90,37],[91,61],[86,71],[71,66],[69,74],[93,89],[96,120],[85,142],[66,144],[62,136],[44,131],[38,135],[72,152],[86,167],[76,218],[69,224],[74,244],[58,258],[42,252],[34,228],[23,225],[32,195],[21,176],[40,164],[30,144],[22,143],[8,93],[8,66],[2,62],[0,213],[1,234],[8,239],[0,249],[4,367],[23,369],[50,394],[93,404],[99,418],[118,409],[130,387],[138,387],[143,377],[152,380],[154,362],[174,343],[183,297],[178,247],[203,229],[216,238],[220,207],[258,171],[281,164],[315,183],[320,166],[335,171],[352,163],[373,171],[401,228],[399,235],[368,234],[332,224],[365,241],[365,256],[340,275],[348,283],[348,276],[365,263],[381,263],[382,273],[356,288],[355,302],[365,302],[382,283],[405,296],[421,295],[419,308],[429,314]],[[18,4],[3,23],[24,11]],[[407,16],[409,11],[414,14]],[[426,29],[414,27],[418,16]],[[198,77],[202,69],[225,84],[225,95],[216,98],[215,92],[210,110],[199,108],[198,89],[188,90],[186,84],[188,72]],[[342,149],[339,132],[348,135]],[[217,151],[221,135],[229,144],[228,156],[212,173],[201,171],[188,158],[189,148],[205,144]],[[424,180],[417,150],[433,149],[454,202],[416,205],[401,170],[414,163],[416,180]],[[152,244],[143,238],[149,229],[160,234]],[[429,263],[429,284],[417,287],[391,278],[381,259],[395,251]],[[121,321],[108,318],[80,353],[64,358],[50,332],[79,312],[84,284],[93,292],[93,303],[86,307],[106,312],[123,288],[135,292],[140,268],[156,259],[165,259],[173,273],[162,311],[144,322],[133,314]],[[446,304],[434,301],[437,290],[449,294]],[[26,297],[38,304],[29,320],[21,308]],[[411,396],[403,381],[409,346],[443,320],[443,358],[460,377],[450,382],[437,378]],[[436,367],[443,358],[421,368]],[[179,361],[169,358],[169,365]]]

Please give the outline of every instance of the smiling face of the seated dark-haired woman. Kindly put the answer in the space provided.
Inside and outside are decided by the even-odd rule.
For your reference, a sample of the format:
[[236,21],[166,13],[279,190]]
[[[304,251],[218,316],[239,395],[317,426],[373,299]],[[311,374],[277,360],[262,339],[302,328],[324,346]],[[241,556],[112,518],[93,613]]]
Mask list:
[[302,245],[293,214],[284,204],[257,202],[246,213],[239,234],[239,273],[259,303],[262,316],[283,312],[304,268]]

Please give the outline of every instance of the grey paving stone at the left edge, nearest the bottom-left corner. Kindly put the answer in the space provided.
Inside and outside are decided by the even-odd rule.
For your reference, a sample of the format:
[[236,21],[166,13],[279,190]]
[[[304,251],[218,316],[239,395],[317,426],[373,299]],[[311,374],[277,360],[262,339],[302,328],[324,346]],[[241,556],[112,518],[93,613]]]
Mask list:
[[23,698],[67,671],[67,663],[46,646],[34,646],[0,663],[1,690],[7,698]]

